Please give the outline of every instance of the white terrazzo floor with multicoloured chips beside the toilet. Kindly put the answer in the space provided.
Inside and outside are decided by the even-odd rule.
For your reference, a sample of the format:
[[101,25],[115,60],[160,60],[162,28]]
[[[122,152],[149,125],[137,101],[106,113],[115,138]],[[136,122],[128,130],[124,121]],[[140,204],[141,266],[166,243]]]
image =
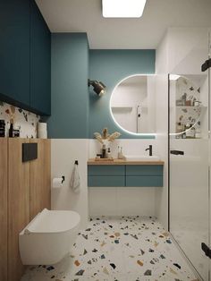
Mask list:
[[93,217],[72,253],[21,281],[198,281],[154,217]]

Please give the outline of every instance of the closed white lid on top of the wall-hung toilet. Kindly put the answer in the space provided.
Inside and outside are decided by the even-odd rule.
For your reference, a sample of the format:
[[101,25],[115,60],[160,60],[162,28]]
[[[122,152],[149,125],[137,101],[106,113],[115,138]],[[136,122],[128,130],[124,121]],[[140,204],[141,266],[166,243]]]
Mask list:
[[74,211],[43,209],[25,228],[31,233],[59,233],[80,224],[80,215]]

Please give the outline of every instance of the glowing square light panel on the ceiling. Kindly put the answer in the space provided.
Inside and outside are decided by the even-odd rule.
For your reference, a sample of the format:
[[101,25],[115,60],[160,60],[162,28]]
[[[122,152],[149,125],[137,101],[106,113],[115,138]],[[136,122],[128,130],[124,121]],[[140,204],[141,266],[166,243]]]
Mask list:
[[105,18],[139,18],[147,0],[102,0]]

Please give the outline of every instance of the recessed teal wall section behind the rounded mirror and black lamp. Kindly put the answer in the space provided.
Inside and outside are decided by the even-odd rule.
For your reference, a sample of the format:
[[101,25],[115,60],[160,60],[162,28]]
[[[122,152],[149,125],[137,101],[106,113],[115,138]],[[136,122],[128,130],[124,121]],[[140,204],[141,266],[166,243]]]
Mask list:
[[122,131],[112,119],[109,101],[115,85],[137,73],[155,73],[155,50],[96,50],[89,51],[89,79],[102,81],[106,94],[98,98],[89,89],[89,138],[107,127],[109,132],[121,132],[122,139],[154,139],[154,136],[134,136]]

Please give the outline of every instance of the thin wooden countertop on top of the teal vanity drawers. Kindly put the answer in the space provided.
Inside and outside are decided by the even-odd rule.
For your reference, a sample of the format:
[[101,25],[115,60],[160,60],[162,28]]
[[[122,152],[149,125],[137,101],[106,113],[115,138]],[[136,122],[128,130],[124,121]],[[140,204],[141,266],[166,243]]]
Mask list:
[[88,165],[165,165],[165,162],[160,160],[130,161],[130,160],[122,160],[122,159],[104,161],[104,160],[95,160],[95,158],[91,158],[88,160]]

